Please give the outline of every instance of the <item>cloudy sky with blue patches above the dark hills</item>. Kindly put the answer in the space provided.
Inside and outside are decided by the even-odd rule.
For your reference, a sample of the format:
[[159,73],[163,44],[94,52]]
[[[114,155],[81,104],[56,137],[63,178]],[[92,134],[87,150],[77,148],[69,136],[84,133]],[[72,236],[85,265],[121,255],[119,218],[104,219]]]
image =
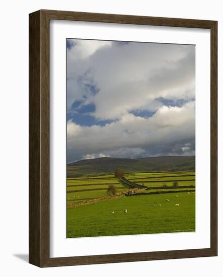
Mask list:
[[195,46],[67,39],[67,162],[195,155]]

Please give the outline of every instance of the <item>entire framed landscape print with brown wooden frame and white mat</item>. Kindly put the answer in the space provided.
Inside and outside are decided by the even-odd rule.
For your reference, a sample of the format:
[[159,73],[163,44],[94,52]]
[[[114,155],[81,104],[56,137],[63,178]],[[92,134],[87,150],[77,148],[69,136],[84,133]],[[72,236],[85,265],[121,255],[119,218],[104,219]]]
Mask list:
[[29,15],[29,262],[217,255],[217,22]]

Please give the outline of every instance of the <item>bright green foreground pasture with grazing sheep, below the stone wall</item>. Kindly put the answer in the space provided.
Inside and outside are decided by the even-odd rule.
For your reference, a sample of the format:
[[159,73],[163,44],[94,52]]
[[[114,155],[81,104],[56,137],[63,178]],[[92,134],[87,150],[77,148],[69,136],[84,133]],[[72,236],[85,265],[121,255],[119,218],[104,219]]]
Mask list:
[[195,194],[191,193],[180,192],[178,198],[171,193],[123,196],[67,209],[68,238],[191,231],[195,231]]

